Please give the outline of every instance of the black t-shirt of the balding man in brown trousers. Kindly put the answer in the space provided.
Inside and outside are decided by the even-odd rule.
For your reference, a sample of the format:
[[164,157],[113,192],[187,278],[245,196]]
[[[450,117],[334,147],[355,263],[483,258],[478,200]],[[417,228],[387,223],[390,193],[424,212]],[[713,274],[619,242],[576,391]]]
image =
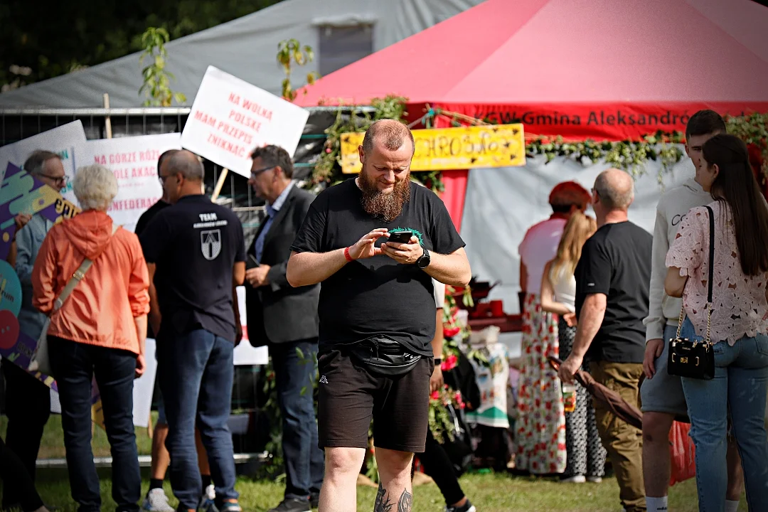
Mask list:
[[589,360],[643,362],[652,243],[650,233],[629,221],[601,226],[584,243],[576,266],[576,315],[589,294],[607,297]]

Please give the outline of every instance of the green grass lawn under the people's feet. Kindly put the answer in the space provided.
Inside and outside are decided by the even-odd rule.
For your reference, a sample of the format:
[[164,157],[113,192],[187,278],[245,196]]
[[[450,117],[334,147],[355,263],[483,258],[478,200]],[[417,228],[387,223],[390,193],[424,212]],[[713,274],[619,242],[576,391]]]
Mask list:
[[[149,454],[151,440],[146,428],[137,428],[137,444],[140,454]],[[5,438],[5,418],[0,418],[0,435]],[[61,418],[52,415],[45,428],[40,456],[45,458],[64,457],[61,441]],[[94,454],[109,454],[106,435],[101,428],[95,429]],[[111,481],[109,470],[100,470],[101,496],[104,500],[102,510],[114,511],[111,500]],[[144,469],[144,493],[149,482]],[[559,484],[551,479],[533,477],[513,477],[508,474],[466,474],[461,478],[462,488],[477,507],[478,512],[618,512],[621,510],[618,500],[618,486],[614,478],[606,478],[602,484]],[[166,493],[170,496],[170,484],[166,482]],[[253,481],[240,477],[237,491],[240,503],[246,512],[262,512],[274,507],[283,497],[283,484],[274,481]],[[75,512],[76,506],[71,500],[68,475],[62,470],[38,471],[38,491],[46,503],[60,507],[62,512]],[[358,487],[358,510],[372,510],[376,489]],[[171,498],[171,505],[177,502]],[[415,487],[413,512],[437,512],[443,510],[445,502],[435,484]],[[677,484],[670,490],[670,510],[675,512],[695,512],[698,510],[696,485],[693,480]],[[743,502],[741,510],[746,510]]]

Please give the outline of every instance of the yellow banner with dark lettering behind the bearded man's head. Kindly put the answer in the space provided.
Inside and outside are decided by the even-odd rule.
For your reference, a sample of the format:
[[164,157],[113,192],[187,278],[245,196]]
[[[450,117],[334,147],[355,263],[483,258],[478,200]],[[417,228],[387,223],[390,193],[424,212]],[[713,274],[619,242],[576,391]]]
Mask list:
[[[491,124],[436,130],[413,130],[416,144],[411,170],[473,169],[525,165],[522,124]],[[357,147],[363,133],[341,136],[341,168],[360,172]]]

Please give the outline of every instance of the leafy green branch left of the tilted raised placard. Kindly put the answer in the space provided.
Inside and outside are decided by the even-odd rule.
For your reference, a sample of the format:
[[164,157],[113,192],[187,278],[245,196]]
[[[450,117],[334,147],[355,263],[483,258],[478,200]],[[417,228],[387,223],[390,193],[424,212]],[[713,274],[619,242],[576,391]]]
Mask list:
[[139,57],[139,65],[144,64],[144,59],[151,62],[141,70],[144,84],[139,89],[139,95],[144,94],[147,98],[144,101],[144,107],[170,107],[174,100],[178,104],[184,104],[187,101],[183,93],[174,93],[170,90],[170,81],[175,78],[165,69],[168,57],[165,45],[168,41],[170,36],[165,28],[150,27],[141,35],[141,46],[144,52]]

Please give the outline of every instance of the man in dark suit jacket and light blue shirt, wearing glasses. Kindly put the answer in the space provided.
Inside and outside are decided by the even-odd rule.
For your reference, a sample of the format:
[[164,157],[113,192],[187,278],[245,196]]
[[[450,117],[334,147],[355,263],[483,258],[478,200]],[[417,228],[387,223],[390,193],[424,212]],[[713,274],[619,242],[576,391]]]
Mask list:
[[291,287],[286,264],[314,196],[291,180],[293,162],[282,147],[257,147],[251,158],[248,183],[266,200],[266,217],[248,250],[248,339],[251,345],[267,345],[270,350],[286,464],[285,499],[270,512],[309,512],[310,504],[317,506],[324,471],[312,393],[320,287]]

